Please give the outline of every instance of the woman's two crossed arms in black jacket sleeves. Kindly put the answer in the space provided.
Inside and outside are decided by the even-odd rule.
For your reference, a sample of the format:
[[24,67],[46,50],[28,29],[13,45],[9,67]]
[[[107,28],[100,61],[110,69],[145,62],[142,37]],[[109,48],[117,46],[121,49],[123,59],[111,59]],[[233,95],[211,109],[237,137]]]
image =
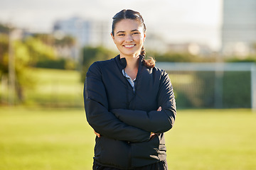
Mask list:
[[100,75],[100,68],[97,64],[92,64],[87,72],[84,91],[87,121],[98,137],[105,135],[115,140],[145,142],[154,133],[166,132],[172,128],[176,106],[168,74],[164,72],[161,77],[158,99],[161,107],[149,113],[126,109],[108,111],[107,96]]

